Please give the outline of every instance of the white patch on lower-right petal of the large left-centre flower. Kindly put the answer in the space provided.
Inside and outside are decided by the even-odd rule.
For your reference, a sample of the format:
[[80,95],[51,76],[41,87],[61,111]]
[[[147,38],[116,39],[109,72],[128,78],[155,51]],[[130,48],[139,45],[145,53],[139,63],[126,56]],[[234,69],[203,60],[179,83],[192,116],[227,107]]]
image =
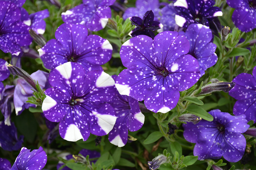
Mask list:
[[115,123],[116,123],[116,116],[113,115],[101,115],[98,112],[92,111],[92,114],[97,116],[98,119],[98,125],[106,135],[113,129]]

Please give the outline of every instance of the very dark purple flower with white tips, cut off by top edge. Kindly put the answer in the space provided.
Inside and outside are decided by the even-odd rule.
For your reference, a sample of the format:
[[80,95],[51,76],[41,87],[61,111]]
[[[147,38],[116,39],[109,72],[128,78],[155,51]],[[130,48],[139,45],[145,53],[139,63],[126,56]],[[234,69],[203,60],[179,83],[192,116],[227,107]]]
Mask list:
[[177,0],[173,4],[178,10],[176,24],[185,28],[192,23],[209,26],[211,18],[222,16],[222,11],[219,7],[213,7],[214,4],[214,0]]

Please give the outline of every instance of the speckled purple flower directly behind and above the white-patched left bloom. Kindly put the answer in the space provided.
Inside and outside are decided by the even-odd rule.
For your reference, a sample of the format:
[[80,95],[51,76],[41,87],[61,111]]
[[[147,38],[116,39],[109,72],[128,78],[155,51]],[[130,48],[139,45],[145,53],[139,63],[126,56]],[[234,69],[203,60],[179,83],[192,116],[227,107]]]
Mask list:
[[59,26],[55,32],[57,40],[48,41],[38,50],[44,66],[54,69],[70,61],[81,64],[86,72],[102,70],[100,65],[110,60],[113,48],[108,40],[87,34],[87,28],[79,24]]

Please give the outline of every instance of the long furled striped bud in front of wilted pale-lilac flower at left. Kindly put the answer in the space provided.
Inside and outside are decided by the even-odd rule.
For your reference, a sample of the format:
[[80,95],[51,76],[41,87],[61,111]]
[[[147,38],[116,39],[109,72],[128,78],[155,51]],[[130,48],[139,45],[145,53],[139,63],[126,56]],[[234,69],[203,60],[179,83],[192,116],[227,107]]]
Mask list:
[[33,78],[30,77],[30,75],[26,71],[22,70],[19,67],[13,66],[11,64],[8,64],[7,68],[13,76],[19,76],[23,78],[28,83],[28,85],[30,85],[34,90],[37,91],[36,82],[33,80]]

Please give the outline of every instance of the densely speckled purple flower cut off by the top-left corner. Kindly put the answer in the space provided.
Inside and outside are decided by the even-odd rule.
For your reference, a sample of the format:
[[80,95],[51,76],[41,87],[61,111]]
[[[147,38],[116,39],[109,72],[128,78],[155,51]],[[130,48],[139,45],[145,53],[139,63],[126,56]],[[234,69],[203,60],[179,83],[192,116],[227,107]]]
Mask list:
[[0,1],[0,49],[4,53],[19,55],[21,46],[31,44],[32,38],[21,18],[20,9],[10,1]]

